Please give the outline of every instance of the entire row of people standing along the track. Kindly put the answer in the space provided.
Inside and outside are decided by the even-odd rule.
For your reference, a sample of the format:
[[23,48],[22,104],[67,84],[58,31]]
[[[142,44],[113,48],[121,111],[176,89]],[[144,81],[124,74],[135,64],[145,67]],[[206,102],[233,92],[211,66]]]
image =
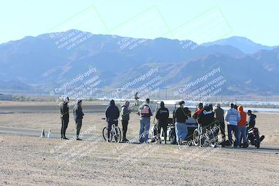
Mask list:
[[[68,139],[66,137],[66,129],[69,123],[69,98],[66,97],[61,104],[61,139]],[[137,114],[140,116],[140,143],[148,143],[149,140],[149,129],[151,116],[153,116],[153,110],[149,104],[150,100],[147,98],[143,104],[140,105]],[[201,138],[199,143],[202,146],[204,144],[204,139],[202,139],[202,134],[211,130],[212,126],[217,126],[218,130],[215,132],[217,135],[219,130],[222,134],[222,141],[220,144],[225,146],[225,121],[227,121],[227,133],[229,139],[229,145],[234,147],[241,146],[241,141],[243,139],[243,147],[248,146],[248,141],[246,137],[246,125],[248,128],[255,127],[255,114],[248,110],[248,121],[246,121],[246,112],[243,111],[243,107],[237,107],[234,103],[230,104],[230,109],[225,111],[220,107],[220,104],[216,104],[213,108],[212,104],[209,103],[199,103],[197,110],[191,115],[191,111],[188,107],[185,107],[185,102],[182,100],[179,102],[179,107],[173,111],[173,122],[175,125],[175,137],[176,143],[180,146],[183,144],[183,140],[186,139],[188,135],[188,127],[186,121],[188,118],[195,118],[199,124],[199,132]],[[107,139],[110,139],[110,130],[112,129],[112,124],[118,125],[118,119],[120,117],[122,123],[122,142],[127,142],[126,138],[128,123],[130,120],[130,113],[133,108],[130,107],[130,102],[126,100],[121,106],[121,110],[116,106],[114,100],[110,101],[110,105],[105,110],[105,117],[107,121]],[[80,129],[82,127],[82,118],[84,113],[82,111],[82,100],[77,100],[77,104],[73,108],[73,117],[75,120],[76,127],[76,139],[81,140]],[[156,134],[160,137],[160,132],[163,129],[165,144],[167,143],[167,125],[169,123],[169,110],[165,107],[164,102],[160,102],[160,108],[156,111],[156,119],[158,123],[156,125]],[[236,139],[235,143],[232,141],[232,135]]]

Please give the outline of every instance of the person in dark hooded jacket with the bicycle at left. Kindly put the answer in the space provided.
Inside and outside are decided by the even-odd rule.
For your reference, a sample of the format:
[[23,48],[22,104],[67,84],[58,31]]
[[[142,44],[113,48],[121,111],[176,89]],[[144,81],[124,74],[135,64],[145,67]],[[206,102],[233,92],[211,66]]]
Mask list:
[[118,125],[119,109],[116,107],[114,100],[110,101],[110,105],[105,110],[105,118],[107,118],[107,139],[110,139],[110,131],[112,124]]

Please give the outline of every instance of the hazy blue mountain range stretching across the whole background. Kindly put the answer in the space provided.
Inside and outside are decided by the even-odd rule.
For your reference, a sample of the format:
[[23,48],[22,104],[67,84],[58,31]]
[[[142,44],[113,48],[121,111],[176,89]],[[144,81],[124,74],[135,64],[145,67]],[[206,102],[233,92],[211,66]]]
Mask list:
[[[122,87],[158,68],[156,76],[164,80],[158,88],[175,91],[220,68],[226,83],[218,95],[279,94],[279,47],[243,37],[197,45],[191,40],[125,38],[69,30],[0,45],[0,91],[49,90],[89,68],[96,68],[102,79],[98,88],[104,90]],[[187,93],[208,81],[189,88]]]

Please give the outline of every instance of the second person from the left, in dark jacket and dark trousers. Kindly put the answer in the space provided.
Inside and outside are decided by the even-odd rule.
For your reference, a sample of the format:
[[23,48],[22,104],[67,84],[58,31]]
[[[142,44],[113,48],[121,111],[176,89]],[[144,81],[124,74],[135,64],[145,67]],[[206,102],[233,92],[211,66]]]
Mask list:
[[74,119],[75,119],[75,129],[76,129],[76,137],[77,140],[80,139],[80,130],[82,128],[82,118],[84,116],[82,111],[82,100],[77,100],[77,104],[73,109]]

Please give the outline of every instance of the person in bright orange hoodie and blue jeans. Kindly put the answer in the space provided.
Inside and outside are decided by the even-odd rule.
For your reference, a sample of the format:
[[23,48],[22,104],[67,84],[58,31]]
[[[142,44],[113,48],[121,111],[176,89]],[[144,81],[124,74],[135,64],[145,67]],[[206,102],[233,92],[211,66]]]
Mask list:
[[239,114],[241,116],[241,119],[240,119],[239,123],[237,123],[237,130],[239,130],[239,144],[238,144],[238,146],[240,146],[241,141],[243,139],[243,148],[246,148],[248,146],[247,135],[246,135],[246,112],[243,111],[242,106],[239,106],[237,108],[237,110],[239,111]]

